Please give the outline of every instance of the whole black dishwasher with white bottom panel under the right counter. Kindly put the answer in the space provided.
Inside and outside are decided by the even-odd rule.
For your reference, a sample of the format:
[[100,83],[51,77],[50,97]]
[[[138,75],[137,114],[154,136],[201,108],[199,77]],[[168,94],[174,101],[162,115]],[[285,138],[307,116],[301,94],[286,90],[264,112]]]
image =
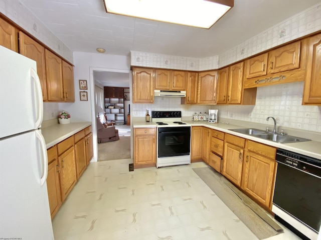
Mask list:
[[321,224],[321,160],[277,149],[276,161],[275,218],[314,240]]

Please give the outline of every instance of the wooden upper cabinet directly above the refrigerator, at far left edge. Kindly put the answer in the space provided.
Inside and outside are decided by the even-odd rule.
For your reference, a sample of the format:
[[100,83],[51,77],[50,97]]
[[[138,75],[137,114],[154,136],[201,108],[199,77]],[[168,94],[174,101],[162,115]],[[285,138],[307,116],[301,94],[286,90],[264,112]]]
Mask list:
[[18,30],[0,18],[0,45],[18,52]]

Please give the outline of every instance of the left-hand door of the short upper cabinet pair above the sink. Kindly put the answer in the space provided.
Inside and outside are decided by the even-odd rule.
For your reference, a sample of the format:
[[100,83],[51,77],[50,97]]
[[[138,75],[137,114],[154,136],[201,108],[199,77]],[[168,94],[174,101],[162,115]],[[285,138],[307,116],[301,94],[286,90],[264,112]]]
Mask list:
[[267,55],[268,53],[266,52],[245,61],[246,78],[266,75]]

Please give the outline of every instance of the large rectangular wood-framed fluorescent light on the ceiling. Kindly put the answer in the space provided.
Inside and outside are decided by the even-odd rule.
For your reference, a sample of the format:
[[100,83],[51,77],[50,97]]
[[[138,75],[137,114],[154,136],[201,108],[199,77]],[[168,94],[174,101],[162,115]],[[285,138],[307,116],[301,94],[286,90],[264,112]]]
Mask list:
[[108,13],[210,28],[234,0],[104,0]]

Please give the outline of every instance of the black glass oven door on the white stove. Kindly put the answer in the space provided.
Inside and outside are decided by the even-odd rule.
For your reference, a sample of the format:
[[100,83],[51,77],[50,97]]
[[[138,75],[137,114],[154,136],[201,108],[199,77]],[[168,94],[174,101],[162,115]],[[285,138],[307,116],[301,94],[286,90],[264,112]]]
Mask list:
[[191,127],[158,127],[158,157],[189,155]]

